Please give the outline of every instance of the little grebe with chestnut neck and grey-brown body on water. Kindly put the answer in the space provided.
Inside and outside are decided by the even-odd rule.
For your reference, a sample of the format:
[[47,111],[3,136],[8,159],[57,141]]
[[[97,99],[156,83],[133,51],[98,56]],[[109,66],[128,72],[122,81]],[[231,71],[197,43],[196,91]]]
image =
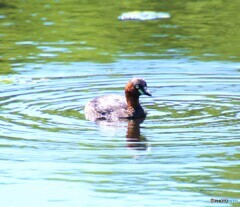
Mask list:
[[144,118],[146,113],[139,103],[139,96],[151,96],[142,78],[131,79],[125,87],[125,97],[115,94],[94,98],[85,106],[85,116],[91,121]]

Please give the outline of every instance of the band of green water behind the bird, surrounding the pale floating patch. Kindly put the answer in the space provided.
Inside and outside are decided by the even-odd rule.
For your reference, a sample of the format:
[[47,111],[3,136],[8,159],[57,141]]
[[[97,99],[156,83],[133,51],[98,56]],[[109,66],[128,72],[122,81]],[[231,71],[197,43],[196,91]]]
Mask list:
[[[190,57],[239,61],[239,1],[3,1],[1,71],[22,62]],[[126,21],[132,10],[170,19]]]

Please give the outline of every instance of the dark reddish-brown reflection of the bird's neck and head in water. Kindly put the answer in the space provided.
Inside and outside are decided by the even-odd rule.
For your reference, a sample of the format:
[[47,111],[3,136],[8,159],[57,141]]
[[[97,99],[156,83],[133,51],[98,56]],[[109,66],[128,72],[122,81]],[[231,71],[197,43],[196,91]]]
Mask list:
[[148,142],[144,136],[141,136],[140,124],[144,121],[142,119],[134,119],[128,121],[127,126],[127,147],[139,151],[148,150]]

